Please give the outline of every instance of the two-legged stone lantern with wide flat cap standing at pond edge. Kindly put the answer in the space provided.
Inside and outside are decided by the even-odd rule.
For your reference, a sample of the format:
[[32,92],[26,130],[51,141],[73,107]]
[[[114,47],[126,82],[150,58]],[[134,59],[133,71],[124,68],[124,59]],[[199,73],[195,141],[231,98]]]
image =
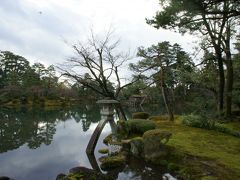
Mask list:
[[101,121],[99,121],[96,129],[94,130],[91,139],[88,143],[86,152],[88,154],[93,154],[96,147],[98,138],[107,122],[109,122],[112,133],[116,133],[117,126],[114,122],[114,106],[119,105],[119,102],[112,99],[103,99],[97,101],[97,104],[101,105]]

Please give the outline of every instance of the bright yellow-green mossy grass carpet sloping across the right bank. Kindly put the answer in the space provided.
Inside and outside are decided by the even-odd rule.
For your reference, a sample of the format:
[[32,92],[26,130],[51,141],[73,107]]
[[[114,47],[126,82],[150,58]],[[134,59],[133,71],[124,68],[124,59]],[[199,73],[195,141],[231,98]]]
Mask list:
[[240,178],[239,138],[221,132],[188,127],[181,124],[178,118],[175,122],[159,119],[161,118],[152,120],[156,122],[157,128],[173,133],[168,145],[174,147],[177,152],[205,159],[210,166],[219,167],[219,171],[216,172],[219,174],[223,173],[224,169],[220,167],[229,169],[226,179]]

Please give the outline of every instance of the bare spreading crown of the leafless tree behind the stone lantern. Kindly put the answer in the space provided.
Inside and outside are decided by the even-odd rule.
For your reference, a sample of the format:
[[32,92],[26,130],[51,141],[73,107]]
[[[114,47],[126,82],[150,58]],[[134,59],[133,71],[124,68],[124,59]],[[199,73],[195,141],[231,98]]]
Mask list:
[[91,31],[87,43],[79,42],[72,46],[76,56],[68,59],[59,69],[63,76],[92,89],[103,97],[117,100],[121,90],[137,79],[125,84],[122,82],[119,71],[131,58],[129,53],[119,51],[119,40],[113,41],[112,35],[110,30],[99,40]]

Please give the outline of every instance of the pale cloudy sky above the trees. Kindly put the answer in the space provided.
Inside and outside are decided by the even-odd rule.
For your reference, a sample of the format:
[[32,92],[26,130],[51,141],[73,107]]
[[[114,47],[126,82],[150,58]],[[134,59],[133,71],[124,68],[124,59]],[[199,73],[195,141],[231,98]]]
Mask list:
[[165,40],[190,51],[191,36],[146,24],[159,8],[158,0],[0,0],[0,50],[31,63],[61,63],[73,55],[69,44],[85,39],[90,29],[103,34],[112,26],[123,51]]

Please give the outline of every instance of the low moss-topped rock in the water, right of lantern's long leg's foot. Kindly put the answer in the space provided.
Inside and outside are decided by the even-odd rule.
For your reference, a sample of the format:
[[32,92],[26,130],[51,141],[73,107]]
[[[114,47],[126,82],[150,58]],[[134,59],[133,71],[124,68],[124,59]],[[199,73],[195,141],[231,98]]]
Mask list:
[[101,169],[104,171],[109,171],[116,168],[122,168],[125,165],[126,157],[122,154],[114,156],[105,156],[99,159],[101,162]]

